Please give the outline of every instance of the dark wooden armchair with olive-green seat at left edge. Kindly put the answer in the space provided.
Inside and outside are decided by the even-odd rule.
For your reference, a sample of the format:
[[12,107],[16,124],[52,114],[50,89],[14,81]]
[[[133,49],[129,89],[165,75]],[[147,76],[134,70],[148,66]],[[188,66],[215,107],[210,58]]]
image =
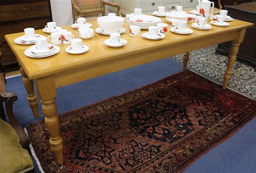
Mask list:
[[[0,74],[0,173],[35,173],[30,140],[13,115],[13,103],[17,99],[15,93],[5,90],[5,79]],[[7,123],[3,102],[12,126]]]

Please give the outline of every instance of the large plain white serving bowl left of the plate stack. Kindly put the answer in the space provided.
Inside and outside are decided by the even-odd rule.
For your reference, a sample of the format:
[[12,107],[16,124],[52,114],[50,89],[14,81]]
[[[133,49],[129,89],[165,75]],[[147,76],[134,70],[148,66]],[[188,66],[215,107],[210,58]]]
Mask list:
[[108,32],[117,32],[124,23],[124,18],[120,16],[101,16],[97,18],[98,26]]

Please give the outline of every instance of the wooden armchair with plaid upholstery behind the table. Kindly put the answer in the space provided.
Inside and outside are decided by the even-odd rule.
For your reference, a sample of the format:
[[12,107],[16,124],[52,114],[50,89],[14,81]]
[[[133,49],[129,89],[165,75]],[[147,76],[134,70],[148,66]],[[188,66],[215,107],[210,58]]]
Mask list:
[[105,16],[106,5],[116,7],[118,15],[121,16],[120,6],[114,2],[105,2],[104,0],[72,0],[74,20],[81,16],[95,15],[99,13]]

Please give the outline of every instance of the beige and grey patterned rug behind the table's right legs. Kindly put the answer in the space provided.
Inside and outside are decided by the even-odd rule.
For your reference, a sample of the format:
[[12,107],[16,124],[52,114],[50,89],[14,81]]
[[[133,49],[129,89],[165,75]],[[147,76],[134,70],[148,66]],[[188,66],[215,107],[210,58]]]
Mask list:
[[[216,48],[217,45],[213,45],[191,51],[188,67],[222,84],[228,58],[216,54]],[[183,54],[171,58],[183,62]],[[256,99],[256,67],[237,59],[228,87]]]

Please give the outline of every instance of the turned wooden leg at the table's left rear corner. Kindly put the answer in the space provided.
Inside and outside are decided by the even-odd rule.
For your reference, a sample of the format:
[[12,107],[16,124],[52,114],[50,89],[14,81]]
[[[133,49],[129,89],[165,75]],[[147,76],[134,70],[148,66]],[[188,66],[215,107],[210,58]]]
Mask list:
[[34,80],[27,77],[26,72],[20,66],[20,73],[22,75],[22,82],[27,90],[27,100],[30,108],[32,109],[35,118],[39,117],[37,96],[34,93]]

